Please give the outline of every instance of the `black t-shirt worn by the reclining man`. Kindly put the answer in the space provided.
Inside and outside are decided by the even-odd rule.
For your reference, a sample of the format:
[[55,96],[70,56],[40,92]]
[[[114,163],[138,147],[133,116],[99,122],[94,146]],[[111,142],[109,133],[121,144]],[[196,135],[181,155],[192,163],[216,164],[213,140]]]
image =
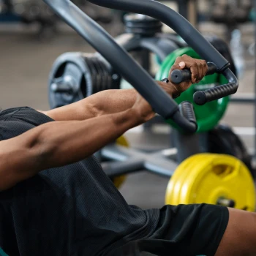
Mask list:
[[[27,107],[4,110],[0,140],[50,121]],[[111,255],[151,236],[158,220],[158,209],[129,206],[94,157],[0,192],[0,247],[10,256]]]

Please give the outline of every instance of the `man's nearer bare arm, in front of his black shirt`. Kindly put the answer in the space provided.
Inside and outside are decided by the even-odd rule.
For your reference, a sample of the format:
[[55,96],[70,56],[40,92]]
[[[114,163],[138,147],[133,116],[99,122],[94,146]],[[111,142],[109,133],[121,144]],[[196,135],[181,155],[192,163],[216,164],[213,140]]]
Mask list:
[[130,108],[86,121],[50,122],[3,140],[0,142],[0,191],[41,170],[85,159],[143,121],[139,112]]

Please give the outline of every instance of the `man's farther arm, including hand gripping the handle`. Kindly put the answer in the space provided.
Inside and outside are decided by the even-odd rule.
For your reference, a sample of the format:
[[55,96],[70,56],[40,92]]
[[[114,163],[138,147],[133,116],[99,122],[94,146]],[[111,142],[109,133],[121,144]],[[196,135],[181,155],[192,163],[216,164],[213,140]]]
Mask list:
[[[170,73],[173,69],[184,68],[191,70],[192,81],[186,81],[180,85],[174,85],[170,82],[162,83],[159,81],[157,81],[157,83],[170,95],[181,94],[182,91],[189,88],[192,83],[200,81],[207,71],[206,61],[195,60],[184,55],[176,59],[176,63],[173,65],[172,69],[170,69]],[[107,90],[91,95],[86,99],[82,99],[70,105],[47,112],[41,112],[56,121],[86,120],[96,116],[109,115],[128,110],[134,105],[137,96],[138,92],[135,91],[135,89]]]

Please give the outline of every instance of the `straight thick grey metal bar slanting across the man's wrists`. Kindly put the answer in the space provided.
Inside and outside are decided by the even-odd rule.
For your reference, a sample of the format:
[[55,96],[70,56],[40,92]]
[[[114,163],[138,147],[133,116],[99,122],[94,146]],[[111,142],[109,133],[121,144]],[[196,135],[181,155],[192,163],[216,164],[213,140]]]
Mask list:
[[90,43],[164,118],[170,118],[176,103],[148,73],[94,20],[69,0],[44,0],[54,12]]

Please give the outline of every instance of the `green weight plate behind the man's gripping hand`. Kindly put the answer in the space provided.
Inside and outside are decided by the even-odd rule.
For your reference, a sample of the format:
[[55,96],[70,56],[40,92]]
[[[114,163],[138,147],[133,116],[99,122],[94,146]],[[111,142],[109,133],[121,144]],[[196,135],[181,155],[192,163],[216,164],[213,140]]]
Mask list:
[[[156,80],[162,80],[164,78],[167,78],[169,75],[170,68],[175,63],[176,58],[184,54],[187,54],[188,56],[191,56],[194,59],[200,59],[200,56],[192,48],[181,48],[175,50],[173,51],[173,53],[167,56],[165,61],[162,63],[159,72],[157,72]],[[230,98],[225,97],[222,99],[215,100],[213,102],[208,102],[206,103],[206,105],[198,106],[193,102],[193,94],[195,93],[195,91],[203,91],[216,84],[224,83],[227,83],[227,80],[225,79],[224,76],[219,74],[208,75],[205,78],[203,78],[203,80],[201,80],[200,83],[190,86],[190,88],[187,89],[187,91],[184,91],[181,94],[181,96],[176,99],[176,102],[178,104],[184,101],[192,102],[195,108],[195,116],[197,118],[197,132],[207,132],[210,129],[213,129],[219,123],[219,120],[222,118],[222,116],[225,113],[225,110],[227,109],[227,105]],[[179,127],[177,127],[176,124],[173,123],[173,121],[168,120],[167,123],[175,127],[176,129],[179,129]]]

